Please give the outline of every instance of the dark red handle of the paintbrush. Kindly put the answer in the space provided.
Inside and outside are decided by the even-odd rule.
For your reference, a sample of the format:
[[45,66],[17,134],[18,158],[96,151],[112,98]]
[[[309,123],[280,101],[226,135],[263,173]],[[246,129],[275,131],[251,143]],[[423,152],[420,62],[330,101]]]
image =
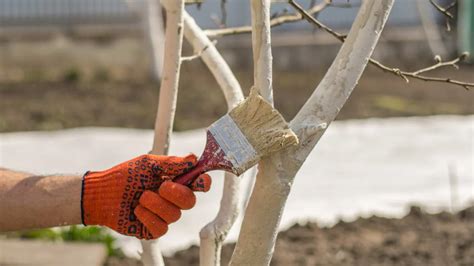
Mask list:
[[204,152],[196,166],[191,171],[175,177],[174,182],[189,186],[198,176],[211,170],[225,170],[232,172],[233,165],[229,162],[224,151],[209,131],[207,132],[207,142]]

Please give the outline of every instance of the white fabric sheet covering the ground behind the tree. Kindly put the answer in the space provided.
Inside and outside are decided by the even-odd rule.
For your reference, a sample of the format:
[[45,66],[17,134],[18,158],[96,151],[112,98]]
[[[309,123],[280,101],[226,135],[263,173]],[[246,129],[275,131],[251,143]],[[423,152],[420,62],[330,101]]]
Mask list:
[[[173,135],[171,154],[200,154],[205,130]],[[0,134],[0,166],[35,174],[101,170],[147,153],[151,130],[78,128],[52,132]],[[408,204],[448,210],[448,167],[455,173],[455,208],[474,200],[474,116],[433,116],[349,120],[333,123],[298,173],[282,218],[282,229],[296,221],[331,225],[339,219],[377,214],[400,217]],[[202,226],[214,218],[222,173],[198,196],[160,240],[165,254],[197,243]],[[248,177],[244,177],[249,182]],[[243,185],[243,187],[246,187]],[[265,203],[262,202],[262,208]],[[235,240],[240,224],[229,240]],[[139,242],[120,239],[128,255]]]

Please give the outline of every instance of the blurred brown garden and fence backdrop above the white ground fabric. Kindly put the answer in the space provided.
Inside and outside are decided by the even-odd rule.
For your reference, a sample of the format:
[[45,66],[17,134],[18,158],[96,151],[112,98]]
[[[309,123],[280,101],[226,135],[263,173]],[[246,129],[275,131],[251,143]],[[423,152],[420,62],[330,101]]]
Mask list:
[[[151,75],[144,1],[129,2],[0,0],[0,131],[152,128],[159,85]],[[311,1],[306,2],[305,7]],[[433,64],[435,55],[448,59],[472,52],[472,7],[471,1],[465,2],[465,18],[451,20],[447,31],[446,17],[429,1],[396,1],[374,57],[392,67],[416,70]],[[318,19],[347,33],[360,1],[334,3],[336,7],[325,9]],[[247,1],[227,1],[226,9],[227,26],[250,24]],[[188,5],[187,10],[201,27],[219,28],[220,1]],[[275,3],[272,11],[293,13],[284,2]],[[241,34],[217,39],[243,88],[252,84],[250,38]],[[290,119],[324,75],[340,43],[302,20],[275,27],[273,44],[276,106]],[[189,46],[184,53],[192,54]],[[472,65],[465,64],[460,71],[436,72],[462,80],[472,80],[472,73]],[[180,88],[176,130],[207,126],[225,112],[223,96],[200,60],[183,64]],[[338,119],[471,114],[469,96],[443,83],[407,84],[369,66]],[[202,104],[191,104],[195,102]]]

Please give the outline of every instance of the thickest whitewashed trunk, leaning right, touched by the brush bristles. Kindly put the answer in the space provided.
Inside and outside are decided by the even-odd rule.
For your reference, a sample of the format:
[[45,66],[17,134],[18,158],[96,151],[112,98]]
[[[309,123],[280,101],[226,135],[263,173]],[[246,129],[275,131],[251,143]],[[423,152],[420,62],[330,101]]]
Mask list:
[[[299,137],[300,145],[275,153],[259,164],[255,188],[245,212],[231,265],[270,263],[278,225],[295,175],[357,85],[393,2],[394,0],[362,2],[351,31],[334,62],[290,123]],[[252,8],[255,9],[254,6]]]

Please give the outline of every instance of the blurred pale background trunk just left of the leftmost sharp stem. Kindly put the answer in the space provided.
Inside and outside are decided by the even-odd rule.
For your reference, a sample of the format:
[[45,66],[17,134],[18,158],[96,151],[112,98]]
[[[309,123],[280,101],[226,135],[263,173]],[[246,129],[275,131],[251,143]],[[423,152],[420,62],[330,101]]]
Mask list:
[[160,81],[165,42],[160,0],[147,0],[143,8],[143,27],[150,50],[151,74],[156,81]]

